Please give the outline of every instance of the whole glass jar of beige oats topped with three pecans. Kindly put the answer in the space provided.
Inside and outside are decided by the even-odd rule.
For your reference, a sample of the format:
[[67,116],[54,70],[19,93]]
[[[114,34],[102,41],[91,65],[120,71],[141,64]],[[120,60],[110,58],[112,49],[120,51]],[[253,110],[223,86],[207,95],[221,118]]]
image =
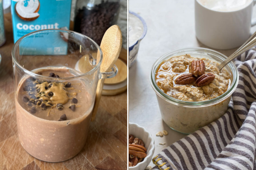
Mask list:
[[151,69],[151,86],[161,116],[172,129],[192,133],[226,111],[238,84],[238,71],[227,57],[207,48],[184,48],[158,59]]

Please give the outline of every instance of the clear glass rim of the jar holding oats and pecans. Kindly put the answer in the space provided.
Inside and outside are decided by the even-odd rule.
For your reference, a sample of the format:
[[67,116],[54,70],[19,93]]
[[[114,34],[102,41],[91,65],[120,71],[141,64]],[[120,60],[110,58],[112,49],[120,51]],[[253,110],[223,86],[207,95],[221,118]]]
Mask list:
[[170,57],[174,57],[174,56],[172,56],[173,54],[180,53],[180,52],[186,52],[186,51],[198,51],[198,52],[213,54],[215,57],[218,57],[221,60],[224,60],[224,59],[227,58],[227,56],[225,56],[224,54],[219,53],[218,51],[211,50],[211,49],[208,49],[208,48],[199,48],[199,47],[181,48],[181,49],[171,51],[171,52],[168,52],[168,53],[164,54],[162,57],[157,59],[156,62],[154,62],[153,66],[151,68],[151,73],[150,73],[151,86],[152,86],[152,88],[154,89],[154,91],[156,92],[156,94],[158,96],[160,96],[162,99],[165,99],[168,102],[171,102],[172,104],[175,104],[175,105],[183,105],[183,106],[188,106],[188,107],[193,107],[193,106],[194,107],[204,107],[204,106],[207,106],[207,105],[217,104],[218,102],[221,102],[221,101],[227,99],[231,94],[233,94],[233,92],[235,91],[235,89],[238,85],[238,81],[239,81],[238,70],[236,68],[236,65],[234,65],[233,62],[230,62],[226,65],[226,66],[229,66],[230,70],[232,71],[233,81],[231,82],[230,88],[224,94],[222,94],[221,96],[218,96],[214,99],[201,101],[201,102],[188,102],[188,101],[175,99],[175,98],[167,95],[166,93],[164,93],[159,88],[159,86],[157,85],[157,82],[155,80],[155,74],[156,74],[157,68],[159,67],[160,63],[163,62],[163,60],[165,60],[167,58],[170,58]]

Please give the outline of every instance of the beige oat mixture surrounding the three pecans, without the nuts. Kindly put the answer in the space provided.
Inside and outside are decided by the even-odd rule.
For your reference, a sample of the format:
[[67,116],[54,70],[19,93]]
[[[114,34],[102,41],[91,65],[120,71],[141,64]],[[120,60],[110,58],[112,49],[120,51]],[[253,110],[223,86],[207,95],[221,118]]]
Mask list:
[[206,58],[200,58],[205,63],[205,73],[212,73],[215,76],[215,79],[209,85],[198,87],[195,83],[188,85],[177,85],[175,83],[175,79],[181,74],[191,73],[193,60],[199,60],[199,58],[186,54],[163,61],[155,77],[160,89],[175,99],[189,102],[210,100],[224,94],[230,86],[232,74],[226,68],[219,71],[217,68],[219,64]]

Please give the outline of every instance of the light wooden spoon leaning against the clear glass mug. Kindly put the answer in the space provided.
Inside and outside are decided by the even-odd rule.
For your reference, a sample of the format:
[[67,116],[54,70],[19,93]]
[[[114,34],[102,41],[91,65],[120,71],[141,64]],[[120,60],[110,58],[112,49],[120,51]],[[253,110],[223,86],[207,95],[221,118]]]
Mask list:
[[[102,53],[103,53],[100,72],[101,73],[109,72],[111,71],[111,68],[113,67],[113,65],[116,63],[116,60],[122,48],[122,33],[119,26],[114,25],[108,28],[108,30],[105,32],[102,38],[100,48],[102,49]],[[99,62],[99,59],[100,59],[100,54],[98,52],[97,62]],[[97,85],[96,97],[95,97],[93,115],[92,115],[91,121],[95,119],[95,116],[99,107],[99,101],[102,94],[104,78],[106,77],[99,79],[99,82]]]

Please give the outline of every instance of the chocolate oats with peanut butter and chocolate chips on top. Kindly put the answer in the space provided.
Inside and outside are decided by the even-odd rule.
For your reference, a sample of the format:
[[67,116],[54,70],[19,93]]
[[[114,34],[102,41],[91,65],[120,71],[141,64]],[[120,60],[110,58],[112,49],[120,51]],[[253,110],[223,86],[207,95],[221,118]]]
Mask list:
[[[73,77],[66,68],[41,69],[46,77]],[[17,88],[19,139],[32,156],[50,162],[75,156],[84,146],[93,96],[81,80],[44,81],[25,76]]]

